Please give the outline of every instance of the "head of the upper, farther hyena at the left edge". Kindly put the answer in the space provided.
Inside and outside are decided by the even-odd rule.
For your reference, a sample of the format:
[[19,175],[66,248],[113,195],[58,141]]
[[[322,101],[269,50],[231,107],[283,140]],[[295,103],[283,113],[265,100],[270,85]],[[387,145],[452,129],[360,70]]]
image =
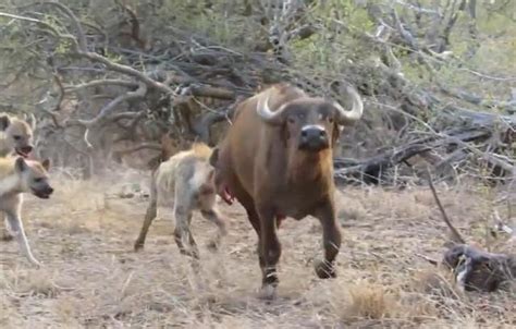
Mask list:
[[5,134],[7,144],[22,157],[33,150],[33,126],[25,120],[0,115],[0,131]]

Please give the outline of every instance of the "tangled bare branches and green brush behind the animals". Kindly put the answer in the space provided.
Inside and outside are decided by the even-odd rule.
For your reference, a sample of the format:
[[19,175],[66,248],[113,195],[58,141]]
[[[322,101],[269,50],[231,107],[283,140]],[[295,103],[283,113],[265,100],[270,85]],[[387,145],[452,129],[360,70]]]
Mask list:
[[37,155],[85,176],[155,166],[165,133],[179,149],[216,145],[238,100],[281,81],[364,97],[342,176],[393,183],[419,162],[449,180],[515,172],[515,1],[1,0],[0,12],[0,110],[34,113]]

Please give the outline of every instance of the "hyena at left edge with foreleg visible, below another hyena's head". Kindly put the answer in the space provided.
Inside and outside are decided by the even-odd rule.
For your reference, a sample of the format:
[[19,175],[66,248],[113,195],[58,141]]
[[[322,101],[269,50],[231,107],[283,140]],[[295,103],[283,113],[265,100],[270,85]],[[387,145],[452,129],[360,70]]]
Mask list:
[[49,198],[53,188],[49,184],[49,160],[42,162],[23,157],[0,158],[0,210],[7,215],[10,231],[14,234],[25,257],[35,266],[40,264],[33,256],[22,223],[23,193]]

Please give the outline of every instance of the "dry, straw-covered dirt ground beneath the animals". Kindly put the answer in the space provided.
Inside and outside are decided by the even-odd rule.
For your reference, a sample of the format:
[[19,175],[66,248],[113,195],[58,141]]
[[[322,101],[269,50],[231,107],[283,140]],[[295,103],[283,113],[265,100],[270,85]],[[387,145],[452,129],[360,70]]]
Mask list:
[[[198,214],[193,234],[200,272],[177,252],[171,209],[158,209],[142,252],[133,243],[147,200],[145,173],[82,182],[54,175],[49,200],[26,196],[24,223],[30,268],[15,242],[0,242],[1,328],[514,328],[515,290],[464,294],[444,270],[417,254],[440,259],[446,232],[427,188],[346,188],[339,194],[343,245],[337,273],[320,280],[317,220],[286,220],[279,297],[257,297],[260,270],[256,234],[239,205],[221,204],[229,236],[217,252],[216,233]],[[139,187],[138,187],[139,186]],[[489,192],[475,186],[442,191],[456,227],[486,245]],[[133,193],[133,197],[122,194]],[[503,209],[501,210],[503,215]],[[503,248],[503,241],[491,241]]]

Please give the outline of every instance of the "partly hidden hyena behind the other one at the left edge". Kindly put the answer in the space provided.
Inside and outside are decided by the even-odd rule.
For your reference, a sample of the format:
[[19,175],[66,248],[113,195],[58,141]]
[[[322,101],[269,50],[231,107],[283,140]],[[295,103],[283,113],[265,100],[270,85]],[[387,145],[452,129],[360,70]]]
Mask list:
[[0,113],[0,157],[17,154],[24,158],[33,150],[34,120]]

